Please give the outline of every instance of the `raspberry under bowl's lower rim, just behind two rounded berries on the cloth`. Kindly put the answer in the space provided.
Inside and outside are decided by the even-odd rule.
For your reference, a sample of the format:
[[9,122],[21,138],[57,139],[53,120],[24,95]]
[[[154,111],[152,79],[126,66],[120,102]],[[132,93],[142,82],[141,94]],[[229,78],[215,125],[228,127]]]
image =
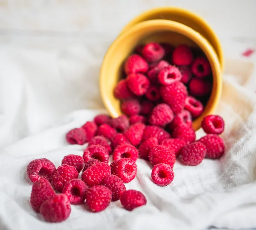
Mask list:
[[183,139],[187,144],[195,141],[195,130],[187,126],[178,126],[172,132],[173,138]]

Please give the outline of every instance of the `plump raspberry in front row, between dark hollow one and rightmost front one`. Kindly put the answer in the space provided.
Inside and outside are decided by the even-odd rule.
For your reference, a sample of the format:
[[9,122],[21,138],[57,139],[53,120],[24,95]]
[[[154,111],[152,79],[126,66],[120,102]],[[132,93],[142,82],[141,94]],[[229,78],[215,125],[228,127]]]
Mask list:
[[110,204],[111,199],[111,190],[102,185],[90,187],[86,193],[86,203],[93,213],[105,210]]

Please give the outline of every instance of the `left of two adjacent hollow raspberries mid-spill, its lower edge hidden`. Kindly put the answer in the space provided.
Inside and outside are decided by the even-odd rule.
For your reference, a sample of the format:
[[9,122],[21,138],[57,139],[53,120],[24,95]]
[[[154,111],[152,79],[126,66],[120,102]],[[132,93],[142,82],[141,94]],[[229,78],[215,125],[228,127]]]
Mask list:
[[101,145],[90,145],[84,150],[83,154],[84,162],[94,158],[100,162],[108,163],[109,153],[108,150]]

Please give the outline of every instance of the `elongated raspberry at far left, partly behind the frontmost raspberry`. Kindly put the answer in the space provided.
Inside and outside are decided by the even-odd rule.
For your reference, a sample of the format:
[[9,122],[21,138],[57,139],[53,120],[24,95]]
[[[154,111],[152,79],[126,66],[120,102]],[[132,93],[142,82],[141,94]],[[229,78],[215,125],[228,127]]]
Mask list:
[[55,196],[55,192],[47,179],[40,179],[33,184],[30,196],[30,203],[32,208],[39,212],[41,204],[49,198]]

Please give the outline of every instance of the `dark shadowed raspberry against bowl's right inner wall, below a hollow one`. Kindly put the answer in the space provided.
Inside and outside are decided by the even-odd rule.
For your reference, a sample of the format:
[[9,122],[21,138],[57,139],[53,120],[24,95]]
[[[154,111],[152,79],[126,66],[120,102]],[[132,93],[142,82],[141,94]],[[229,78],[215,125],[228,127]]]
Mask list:
[[202,79],[193,78],[189,83],[189,93],[193,96],[207,96],[212,91],[212,83]]

